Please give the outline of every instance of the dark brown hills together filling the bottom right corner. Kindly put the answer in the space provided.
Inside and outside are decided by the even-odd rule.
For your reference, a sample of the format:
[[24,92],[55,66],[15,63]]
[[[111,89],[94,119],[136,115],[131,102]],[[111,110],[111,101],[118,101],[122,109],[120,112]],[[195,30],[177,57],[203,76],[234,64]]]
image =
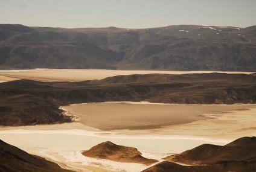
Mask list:
[[256,170],[256,138],[240,138],[225,146],[203,144],[165,160],[144,172],[253,172]]

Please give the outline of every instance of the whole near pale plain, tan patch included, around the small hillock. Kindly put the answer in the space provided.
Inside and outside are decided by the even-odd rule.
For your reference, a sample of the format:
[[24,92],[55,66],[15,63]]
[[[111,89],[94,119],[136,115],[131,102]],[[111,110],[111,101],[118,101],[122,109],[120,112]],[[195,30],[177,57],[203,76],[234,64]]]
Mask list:
[[[63,168],[77,171],[142,171],[148,167],[86,158],[80,151],[88,150],[103,141],[112,141],[136,147],[146,158],[162,161],[161,158],[168,154],[180,153],[200,144],[225,145],[242,136],[256,135],[256,105],[252,104],[120,102],[74,104],[60,108],[66,110],[67,115],[74,115],[75,122],[2,127],[1,139],[29,153],[57,162]],[[177,120],[179,112],[181,115],[178,115],[180,119]],[[107,123],[115,127],[111,129]],[[150,124],[153,127],[147,126]],[[106,128],[103,127],[105,125]]]

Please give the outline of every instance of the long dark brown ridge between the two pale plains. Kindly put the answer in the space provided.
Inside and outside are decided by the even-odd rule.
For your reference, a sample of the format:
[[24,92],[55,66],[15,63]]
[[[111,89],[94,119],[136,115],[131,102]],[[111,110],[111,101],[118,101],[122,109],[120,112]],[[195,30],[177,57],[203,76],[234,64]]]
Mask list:
[[256,102],[256,77],[246,74],[148,74],[82,82],[0,83],[0,125],[70,122],[59,106],[103,101],[233,104]]

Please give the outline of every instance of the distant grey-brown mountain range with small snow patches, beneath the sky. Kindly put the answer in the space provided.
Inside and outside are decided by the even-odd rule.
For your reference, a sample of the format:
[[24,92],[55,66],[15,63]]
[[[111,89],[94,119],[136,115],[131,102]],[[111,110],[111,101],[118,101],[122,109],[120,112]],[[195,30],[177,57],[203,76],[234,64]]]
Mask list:
[[0,68],[256,71],[256,27],[0,25]]

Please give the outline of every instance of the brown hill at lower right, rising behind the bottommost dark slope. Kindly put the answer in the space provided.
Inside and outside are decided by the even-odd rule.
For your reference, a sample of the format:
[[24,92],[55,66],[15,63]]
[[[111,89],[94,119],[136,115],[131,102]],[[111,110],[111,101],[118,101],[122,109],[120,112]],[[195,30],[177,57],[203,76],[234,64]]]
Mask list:
[[237,139],[227,145],[203,144],[180,154],[165,158],[184,164],[214,164],[220,161],[256,161],[256,137]]

